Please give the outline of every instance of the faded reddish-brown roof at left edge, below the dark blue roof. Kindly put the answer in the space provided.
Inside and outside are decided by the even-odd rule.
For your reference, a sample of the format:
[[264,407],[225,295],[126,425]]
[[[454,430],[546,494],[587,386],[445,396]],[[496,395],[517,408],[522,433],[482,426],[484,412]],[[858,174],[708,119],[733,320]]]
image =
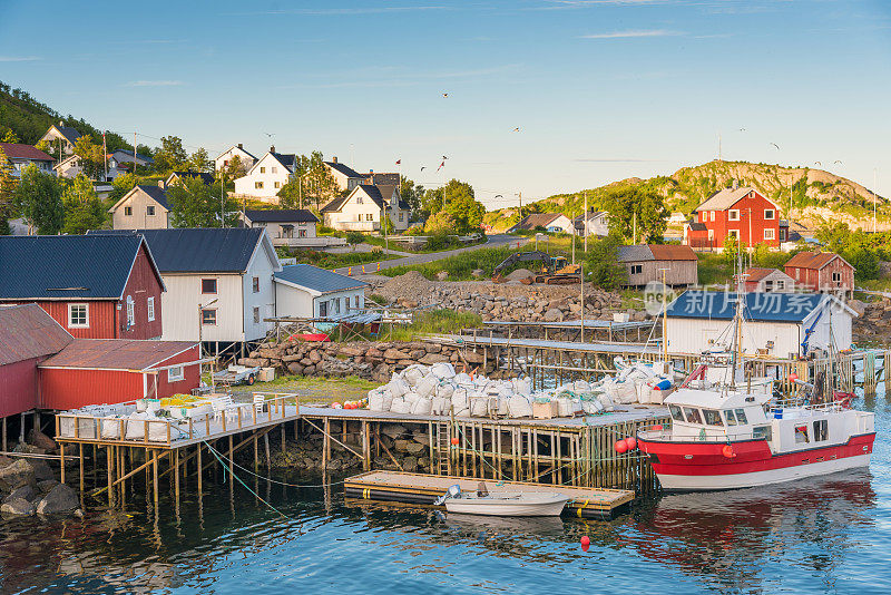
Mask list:
[[0,306],[0,365],[57,353],[71,341],[37,304]]

